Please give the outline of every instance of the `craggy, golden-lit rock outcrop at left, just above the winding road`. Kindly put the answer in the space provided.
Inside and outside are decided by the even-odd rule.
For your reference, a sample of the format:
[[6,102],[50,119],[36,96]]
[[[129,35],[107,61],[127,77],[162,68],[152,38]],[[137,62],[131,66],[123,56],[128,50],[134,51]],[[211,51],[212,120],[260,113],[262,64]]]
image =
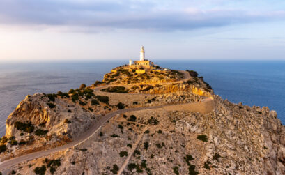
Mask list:
[[[6,120],[8,151],[1,160],[71,142],[98,119],[99,115],[69,99],[51,101],[42,93],[26,96]],[[11,144],[12,140],[18,144]]]

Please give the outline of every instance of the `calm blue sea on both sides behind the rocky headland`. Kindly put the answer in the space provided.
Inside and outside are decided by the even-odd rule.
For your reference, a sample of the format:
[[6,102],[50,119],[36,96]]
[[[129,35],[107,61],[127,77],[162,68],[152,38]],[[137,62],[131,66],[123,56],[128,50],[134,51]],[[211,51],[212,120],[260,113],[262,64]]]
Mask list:
[[[76,89],[102,80],[128,61],[0,63],[0,137],[8,115],[27,95]],[[285,124],[285,61],[155,61],[163,68],[195,70],[215,94],[231,102],[266,106]]]

